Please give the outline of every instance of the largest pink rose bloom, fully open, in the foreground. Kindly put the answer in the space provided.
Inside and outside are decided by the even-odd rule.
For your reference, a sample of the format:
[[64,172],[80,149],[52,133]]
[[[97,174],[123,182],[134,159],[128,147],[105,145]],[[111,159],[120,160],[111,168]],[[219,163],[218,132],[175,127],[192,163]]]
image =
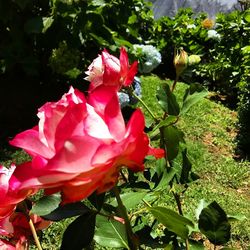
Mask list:
[[10,142],[32,156],[15,170],[18,188],[60,191],[63,203],[109,190],[122,166],[142,171],[144,157],[154,152],[140,110],[125,125],[116,87],[102,85],[88,100],[71,87],[58,102],[42,106],[38,117],[38,126]]

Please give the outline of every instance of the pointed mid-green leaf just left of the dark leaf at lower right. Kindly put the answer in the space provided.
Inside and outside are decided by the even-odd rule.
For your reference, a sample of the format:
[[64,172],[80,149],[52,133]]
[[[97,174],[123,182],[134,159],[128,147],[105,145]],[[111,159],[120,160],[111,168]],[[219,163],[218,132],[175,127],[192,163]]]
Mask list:
[[166,207],[149,207],[148,210],[169,231],[174,232],[182,239],[188,238],[189,229],[187,226],[193,227],[192,221]]

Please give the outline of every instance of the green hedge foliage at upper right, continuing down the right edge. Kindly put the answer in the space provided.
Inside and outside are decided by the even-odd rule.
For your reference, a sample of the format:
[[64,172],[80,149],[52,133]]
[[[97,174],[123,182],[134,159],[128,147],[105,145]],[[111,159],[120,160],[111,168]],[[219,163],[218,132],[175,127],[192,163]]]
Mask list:
[[210,90],[226,96],[231,108],[239,107],[239,153],[249,155],[249,38],[250,11],[217,14],[213,25],[205,27],[205,14],[194,16],[190,9],[181,9],[173,18],[162,17],[154,24],[152,44],[161,52],[162,67],[158,73],[175,78],[174,51],[184,48],[201,57],[181,76],[186,82],[200,82]]

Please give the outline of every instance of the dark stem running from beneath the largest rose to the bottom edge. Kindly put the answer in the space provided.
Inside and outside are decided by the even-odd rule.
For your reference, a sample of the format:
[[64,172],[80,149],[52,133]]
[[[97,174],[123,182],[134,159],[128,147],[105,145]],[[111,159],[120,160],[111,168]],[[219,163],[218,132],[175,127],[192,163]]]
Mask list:
[[127,209],[122,203],[120,193],[119,193],[119,190],[118,190],[117,186],[115,186],[113,188],[113,192],[115,194],[115,198],[116,198],[117,203],[118,203],[119,212],[120,212],[121,216],[123,217],[123,219],[125,221],[126,232],[127,232],[128,239],[129,239],[129,247],[130,247],[131,250],[137,250],[138,249],[138,247],[137,247],[137,239],[136,239],[136,237],[135,237],[135,235],[134,235],[134,233],[132,231],[130,220],[129,220],[128,214],[127,214]]

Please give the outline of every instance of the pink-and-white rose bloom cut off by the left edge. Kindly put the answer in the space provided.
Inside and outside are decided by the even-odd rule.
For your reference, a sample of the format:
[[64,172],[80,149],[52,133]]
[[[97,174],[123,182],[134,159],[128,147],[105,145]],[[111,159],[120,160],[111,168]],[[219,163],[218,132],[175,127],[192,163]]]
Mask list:
[[0,219],[10,215],[19,202],[36,192],[29,188],[18,189],[19,181],[13,174],[15,169],[14,164],[9,169],[0,166]]

